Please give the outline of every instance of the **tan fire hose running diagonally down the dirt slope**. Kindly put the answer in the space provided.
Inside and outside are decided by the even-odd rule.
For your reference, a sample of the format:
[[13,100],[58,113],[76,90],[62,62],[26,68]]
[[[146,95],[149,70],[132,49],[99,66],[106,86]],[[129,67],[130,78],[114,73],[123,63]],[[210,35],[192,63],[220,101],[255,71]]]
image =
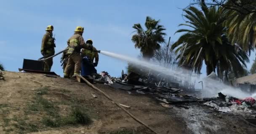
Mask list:
[[119,103],[113,101],[113,99],[107,95],[107,93],[103,92],[102,90],[100,90],[99,88],[96,88],[94,85],[92,85],[88,80],[86,80],[83,76],[81,75],[75,75],[77,77],[80,77],[81,79],[83,79],[89,86],[91,86],[93,89],[99,91],[100,93],[102,93],[105,97],[107,97],[110,101],[112,101],[113,103],[115,103],[118,107],[120,107],[121,109],[123,109],[123,111],[125,111],[129,116],[131,116],[131,118],[133,118],[135,121],[139,122],[140,124],[146,126],[149,130],[151,130],[152,132],[154,132],[155,134],[158,134],[156,131],[154,131],[150,126],[148,126],[147,124],[145,124],[144,122],[142,122],[141,120],[139,120],[138,118],[136,118],[133,114],[131,114],[129,111],[127,111],[125,108],[123,108],[123,106],[121,106]]

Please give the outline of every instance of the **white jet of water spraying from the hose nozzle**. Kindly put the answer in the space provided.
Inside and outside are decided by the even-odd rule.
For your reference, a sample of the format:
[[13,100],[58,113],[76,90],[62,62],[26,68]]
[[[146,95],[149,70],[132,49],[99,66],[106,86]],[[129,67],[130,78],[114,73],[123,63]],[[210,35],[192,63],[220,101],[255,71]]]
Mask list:
[[188,78],[193,82],[200,82],[203,81],[203,95],[202,97],[216,97],[219,92],[223,93],[224,95],[236,97],[236,98],[246,98],[246,97],[254,97],[256,98],[256,93],[251,95],[249,93],[244,93],[242,90],[238,88],[233,88],[231,86],[225,85],[224,83],[221,83],[220,80],[216,79],[213,80],[210,77],[203,78],[201,79],[200,77],[192,77],[191,76],[191,71],[186,70],[186,69],[179,69],[177,70],[171,70],[169,68],[160,66],[158,64],[143,60],[143,59],[136,59],[133,57],[128,57],[122,54],[115,54],[112,52],[107,52],[107,51],[101,51],[101,54],[107,55],[109,57],[113,57],[116,59],[120,59],[129,63],[132,63],[136,65],[137,67],[144,67],[147,68],[151,71],[162,73],[165,76],[168,77],[175,77],[177,81],[187,81]]

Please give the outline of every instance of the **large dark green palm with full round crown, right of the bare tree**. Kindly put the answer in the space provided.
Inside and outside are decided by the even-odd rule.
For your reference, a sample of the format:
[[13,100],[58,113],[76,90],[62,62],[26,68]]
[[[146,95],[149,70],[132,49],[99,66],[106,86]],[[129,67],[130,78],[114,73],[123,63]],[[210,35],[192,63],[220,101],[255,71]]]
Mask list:
[[216,70],[218,75],[223,74],[222,72],[228,72],[232,68],[238,76],[243,72],[243,65],[246,67],[245,62],[249,61],[248,55],[239,46],[228,41],[221,10],[216,7],[207,8],[203,4],[201,8],[202,11],[195,7],[184,10],[184,17],[188,21],[179,26],[188,26],[190,29],[176,31],[186,33],[172,45],[171,49],[180,52],[177,57],[180,64],[192,65],[192,70],[197,73],[200,73],[204,61],[207,75]]

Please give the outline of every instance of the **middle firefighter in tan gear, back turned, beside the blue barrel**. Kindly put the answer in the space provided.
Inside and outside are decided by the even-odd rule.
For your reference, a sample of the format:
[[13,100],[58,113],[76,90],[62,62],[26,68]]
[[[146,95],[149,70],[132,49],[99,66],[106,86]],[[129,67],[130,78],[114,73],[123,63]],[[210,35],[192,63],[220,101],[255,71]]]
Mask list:
[[67,66],[65,67],[65,70],[64,70],[65,78],[69,78],[70,71],[72,70],[73,67],[75,67],[75,69],[74,69],[74,75],[72,77],[75,77],[75,75],[80,74],[81,59],[82,59],[80,55],[80,51],[82,48],[85,48],[85,49],[92,48],[91,44],[85,44],[85,41],[83,39],[83,30],[84,30],[83,27],[77,26],[75,28],[74,35],[71,36],[67,41],[67,44],[69,46],[69,50],[67,51],[67,54],[69,58],[68,58]]

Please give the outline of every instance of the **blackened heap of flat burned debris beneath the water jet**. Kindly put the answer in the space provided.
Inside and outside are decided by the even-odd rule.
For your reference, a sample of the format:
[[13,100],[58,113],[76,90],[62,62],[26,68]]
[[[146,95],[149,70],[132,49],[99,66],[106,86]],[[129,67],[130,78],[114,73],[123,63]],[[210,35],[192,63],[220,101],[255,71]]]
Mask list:
[[160,75],[156,77],[153,77],[153,75],[141,76],[135,72],[127,75],[122,72],[122,77],[113,78],[112,80],[114,81],[113,84],[109,84],[112,88],[126,90],[129,91],[128,93],[134,91],[140,94],[149,94],[167,104],[200,100],[200,98],[180,93],[184,91],[184,88],[178,82],[168,82]]

